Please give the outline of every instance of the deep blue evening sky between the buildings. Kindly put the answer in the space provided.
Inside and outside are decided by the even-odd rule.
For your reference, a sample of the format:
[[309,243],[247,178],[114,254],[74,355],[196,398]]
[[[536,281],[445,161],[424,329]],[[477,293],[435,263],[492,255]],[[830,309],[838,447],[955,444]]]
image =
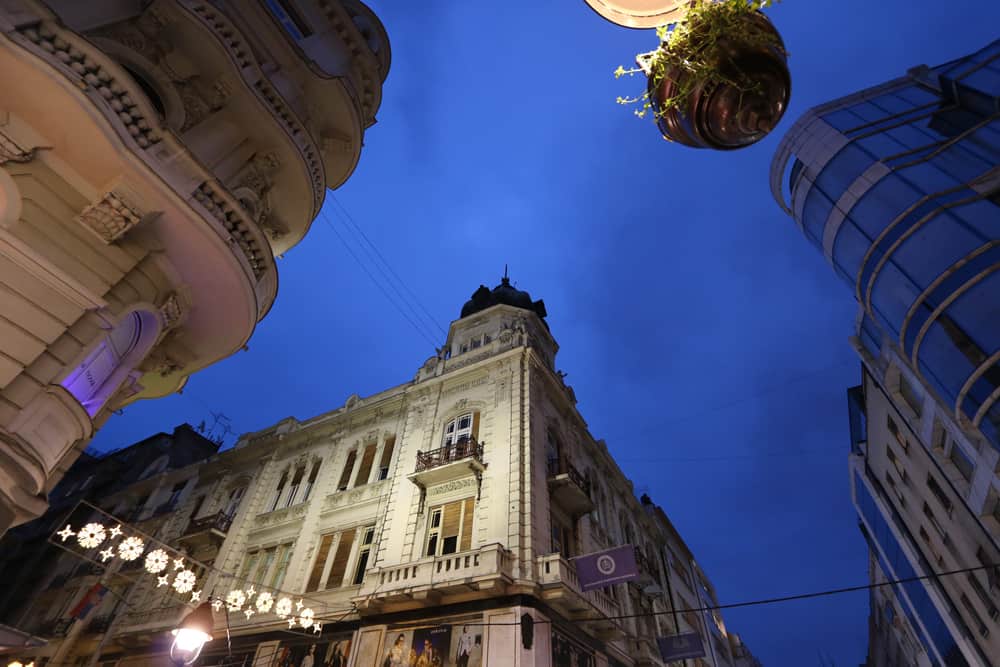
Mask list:
[[[592,433],[664,507],[722,602],[866,582],[846,467],[854,301],[771,199],[771,156],[809,107],[995,39],[1000,3],[780,3],[769,14],[791,53],[791,108],[733,153],[668,144],[615,104],[642,82],[612,71],[655,35],[582,0],[372,7],[392,69],[336,197],[434,319],[446,327],[509,263],[545,300]],[[412,379],[433,346],[338,240],[331,225],[350,232],[332,198],[324,210],[279,261],[249,351],[183,395],[127,408],[96,447],[209,410],[257,430]],[[867,614],[856,593],[725,618],[766,665],[847,666],[864,660]]]

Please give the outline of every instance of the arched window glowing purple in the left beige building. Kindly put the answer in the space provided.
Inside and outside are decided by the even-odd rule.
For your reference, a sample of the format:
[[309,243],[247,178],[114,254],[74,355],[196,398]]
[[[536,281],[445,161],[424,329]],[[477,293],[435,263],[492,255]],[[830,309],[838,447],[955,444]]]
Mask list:
[[135,310],[90,350],[60,383],[93,417],[146,356],[159,335],[159,320]]

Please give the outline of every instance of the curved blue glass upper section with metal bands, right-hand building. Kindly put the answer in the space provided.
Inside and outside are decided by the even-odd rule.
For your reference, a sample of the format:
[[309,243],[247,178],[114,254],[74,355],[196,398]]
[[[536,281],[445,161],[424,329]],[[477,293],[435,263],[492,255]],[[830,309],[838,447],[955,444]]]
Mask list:
[[1000,449],[1000,40],[816,107],[771,190],[883,344]]

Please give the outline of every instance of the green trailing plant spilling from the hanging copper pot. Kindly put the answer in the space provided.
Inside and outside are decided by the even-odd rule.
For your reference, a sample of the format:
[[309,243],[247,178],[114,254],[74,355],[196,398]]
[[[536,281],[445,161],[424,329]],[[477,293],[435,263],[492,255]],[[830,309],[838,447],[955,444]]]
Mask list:
[[[642,73],[648,87],[636,97],[618,97],[618,104],[641,104],[635,110],[639,118],[653,110],[654,120],[677,109],[682,114],[684,103],[697,86],[714,87],[728,84],[744,93],[754,91],[757,83],[721,62],[716,46],[723,40],[739,40],[752,47],[773,48],[782,54],[781,41],[747,17],[778,0],[692,0],[687,14],[677,23],[660,26],[656,35],[660,46],[655,51],[636,56],[638,67],[626,69],[619,65],[615,78]],[[673,82],[672,95],[654,104],[651,92],[657,90],[664,77]]]

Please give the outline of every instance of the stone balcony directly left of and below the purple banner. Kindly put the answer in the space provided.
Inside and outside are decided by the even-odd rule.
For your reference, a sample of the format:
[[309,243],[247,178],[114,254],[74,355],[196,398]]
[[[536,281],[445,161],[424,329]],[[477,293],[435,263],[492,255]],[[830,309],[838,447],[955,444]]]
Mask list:
[[587,621],[585,629],[603,641],[624,636],[621,626],[612,616],[619,613],[618,603],[603,590],[584,592],[576,576],[576,568],[559,554],[539,556],[538,583],[542,599],[572,621]]

